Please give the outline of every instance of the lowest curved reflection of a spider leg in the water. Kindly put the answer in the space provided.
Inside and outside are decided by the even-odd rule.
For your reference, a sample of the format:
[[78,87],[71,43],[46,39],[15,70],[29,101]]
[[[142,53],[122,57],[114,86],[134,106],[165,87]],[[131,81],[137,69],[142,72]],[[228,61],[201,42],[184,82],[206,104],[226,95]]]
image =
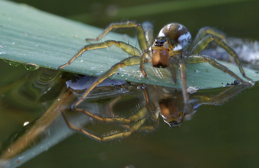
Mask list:
[[70,127],[73,130],[79,131],[82,134],[85,134],[86,136],[99,141],[99,142],[107,142],[107,141],[112,141],[112,140],[116,140],[116,139],[122,139],[122,138],[127,138],[129,137],[132,133],[135,133],[139,130],[139,128],[145,123],[146,118],[134,123],[134,125],[132,127],[129,128],[129,131],[127,132],[122,132],[122,133],[116,133],[110,136],[104,136],[104,137],[98,137],[96,135],[93,135],[91,133],[89,133],[88,131],[80,128],[80,127],[76,127],[75,125],[73,125],[71,122],[68,121],[68,119],[66,118],[66,116],[63,114],[63,112],[61,112],[66,124],[68,125],[68,127]]

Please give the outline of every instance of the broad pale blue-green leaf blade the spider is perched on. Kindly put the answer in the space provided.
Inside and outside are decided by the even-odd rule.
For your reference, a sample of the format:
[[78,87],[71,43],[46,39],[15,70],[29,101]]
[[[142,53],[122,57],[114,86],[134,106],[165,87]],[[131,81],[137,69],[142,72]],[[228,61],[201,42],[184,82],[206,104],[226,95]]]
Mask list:
[[[0,20],[2,46],[0,58],[2,59],[56,69],[87,44],[85,38],[95,38],[102,32],[102,29],[60,18],[25,5],[1,1],[1,8],[1,12],[4,13]],[[102,41],[107,39],[129,41],[133,46],[136,44],[136,39],[112,32],[105,36]],[[126,57],[128,57],[127,53],[114,46],[108,49],[85,52],[82,57],[63,68],[63,71],[99,76],[113,64]],[[223,64],[241,76],[235,66],[229,63]],[[145,64],[145,70],[148,75],[145,78],[140,77],[138,65],[119,69],[111,78],[128,82],[180,87],[179,78],[177,84],[172,83],[168,69],[155,69],[150,64]],[[253,80],[258,79],[258,74],[255,71],[245,69],[245,72]],[[235,80],[208,64],[188,65],[187,78],[188,85],[198,88],[219,87]]]

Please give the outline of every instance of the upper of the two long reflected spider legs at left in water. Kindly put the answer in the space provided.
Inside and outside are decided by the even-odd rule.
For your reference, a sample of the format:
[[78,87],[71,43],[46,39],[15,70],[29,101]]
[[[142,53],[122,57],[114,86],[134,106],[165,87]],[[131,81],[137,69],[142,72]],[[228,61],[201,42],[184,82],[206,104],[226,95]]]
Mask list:
[[123,117],[115,117],[115,118],[99,117],[81,108],[75,108],[74,110],[82,111],[89,117],[106,124],[130,124],[132,122],[138,122],[146,118],[147,116],[149,116],[149,113],[147,113],[146,107],[141,108],[135,115],[129,116],[127,119]]

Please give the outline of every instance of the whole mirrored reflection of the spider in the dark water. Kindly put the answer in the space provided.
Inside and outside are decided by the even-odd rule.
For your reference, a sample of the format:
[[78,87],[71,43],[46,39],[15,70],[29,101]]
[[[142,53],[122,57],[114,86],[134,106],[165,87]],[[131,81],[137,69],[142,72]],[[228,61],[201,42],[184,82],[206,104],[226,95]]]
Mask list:
[[[127,94],[122,94],[119,97],[114,98],[107,104],[106,111],[101,111],[98,114],[85,110],[85,108],[75,109],[76,111],[81,111],[95,119],[96,121],[107,124],[118,125],[124,130],[119,132],[113,130],[110,134],[97,136],[91,131],[85,130],[81,126],[75,126],[72,124],[69,119],[66,117],[64,112],[62,115],[67,123],[68,127],[73,130],[79,131],[80,133],[96,140],[99,142],[112,141],[116,139],[127,138],[132,133],[137,131],[154,131],[159,126],[159,116],[163,118],[163,121],[166,122],[169,126],[174,127],[181,124],[182,120],[186,116],[191,116],[195,113],[198,107],[202,104],[213,104],[213,105],[222,105],[232,98],[235,94],[247,88],[247,85],[231,85],[225,87],[223,91],[220,91],[217,94],[202,94],[198,91],[196,93],[190,94],[190,105],[191,111],[188,113],[185,112],[184,97],[181,91],[170,88],[163,88],[159,86],[147,86],[146,88],[139,89],[135,92],[129,92]],[[132,106],[130,102],[132,100],[138,100],[136,96],[142,97],[142,103],[139,104],[138,110],[133,113],[131,116],[122,117],[116,114],[116,111],[125,111],[126,106]],[[91,98],[89,98],[90,101]],[[127,104],[128,103],[128,104]],[[82,103],[84,104],[84,103]],[[119,107],[119,108],[118,108]],[[116,109],[117,110],[114,110]],[[105,115],[103,115],[106,113]],[[125,112],[129,113],[129,112]],[[149,124],[146,125],[145,122],[149,121]]]

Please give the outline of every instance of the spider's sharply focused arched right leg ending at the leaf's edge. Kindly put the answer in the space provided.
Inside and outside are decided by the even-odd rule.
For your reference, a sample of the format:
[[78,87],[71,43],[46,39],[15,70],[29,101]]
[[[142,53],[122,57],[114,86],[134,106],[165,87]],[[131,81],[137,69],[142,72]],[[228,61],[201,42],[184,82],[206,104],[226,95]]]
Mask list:
[[246,76],[240,62],[239,62],[239,59],[238,59],[238,55],[235,53],[235,51],[233,49],[230,48],[230,46],[228,46],[224,41],[221,40],[221,38],[217,37],[217,36],[214,36],[214,35],[207,35],[205,36],[201,41],[199,41],[196,46],[194,46],[191,50],[191,54],[193,55],[197,55],[199,54],[200,51],[202,51],[206,46],[207,44],[210,42],[210,41],[215,41],[216,43],[218,43],[222,48],[224,48],[232,57],[235,58],[235,61],[238,65],[238,68],[241,72],[241,74],[243,75],[244,78],[246,78],[247,80],[249,81],[252,81],[252,79],[250,79],[249,77]]

